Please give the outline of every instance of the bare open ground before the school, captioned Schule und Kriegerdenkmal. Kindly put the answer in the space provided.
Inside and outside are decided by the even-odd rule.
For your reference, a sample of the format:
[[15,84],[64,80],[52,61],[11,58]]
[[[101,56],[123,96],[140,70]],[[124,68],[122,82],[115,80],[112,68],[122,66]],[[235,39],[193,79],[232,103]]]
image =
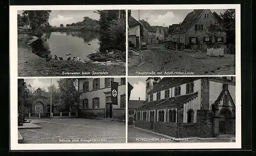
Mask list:
[[41,128],[18,130],[24,143],[125,143],[122,122],[82,118],[35,120]]

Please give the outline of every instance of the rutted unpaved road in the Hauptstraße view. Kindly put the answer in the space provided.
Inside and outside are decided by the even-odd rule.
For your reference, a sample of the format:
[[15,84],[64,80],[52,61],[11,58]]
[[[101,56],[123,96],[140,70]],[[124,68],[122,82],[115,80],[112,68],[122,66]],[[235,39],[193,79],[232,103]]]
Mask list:
[[[224,57],[209,57],[206,53],[178,52],[164,48],[164,44],[148,45],[142,50],[144,61],[140,56],[129,58],[129,75],[143,75],[142,72],[194,72],[194,75],[235,74],[235,55],[225,54]],[[137,59],[137,60],[136,60]],[[137,64],[136,64],[137,63]],[[137,72],[137,73],[136,73]],[[140,72],[140,73],[138,73]],[[151,74],[144,74],[151,75]],[[184,75],[184,74],[183,74]]]

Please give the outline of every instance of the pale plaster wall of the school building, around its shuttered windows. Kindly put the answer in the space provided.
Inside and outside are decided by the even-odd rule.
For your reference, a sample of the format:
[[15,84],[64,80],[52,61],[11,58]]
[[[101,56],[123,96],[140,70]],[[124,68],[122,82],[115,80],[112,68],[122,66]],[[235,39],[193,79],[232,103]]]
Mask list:
[[[89,91],[83,92],[80,96],[81,99],[88,98],[89,101],[89,109],[92,109],[92,99],[94,97],[99,97],[99,109],[106,108],[106,96],[111,96],[111,87],[104,88],[104,78],[100,78],[100,89],[92,90],[93,89],[93,79],[83,79],[79,80],[79,90],[82,90],[83,82],[89,82]],[[120,78],[114,78],[115,82],[121,82]],[[104,93],[105,92],[105,93]],[[118,86],[118,105],[113,105],[113,109],[120,108],[120,95],[125,94],[125,84]],[[82,102],[79,103],[79,108],[82,108]],[[98,109],[98,108],[95,108]]]

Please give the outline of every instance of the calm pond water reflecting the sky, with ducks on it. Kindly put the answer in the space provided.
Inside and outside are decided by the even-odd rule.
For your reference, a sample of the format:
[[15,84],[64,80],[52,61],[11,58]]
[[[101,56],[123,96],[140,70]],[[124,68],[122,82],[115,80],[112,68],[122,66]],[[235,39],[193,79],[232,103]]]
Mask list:
[[[48,53],[62,57],[67,60],[69,57],[79,57],[81,60],[88,60],[87,56],[99,48],[99,33],[97,32],[49,32],[41,37],[43,46]],[[66,54],[71,54],[67,56]]]

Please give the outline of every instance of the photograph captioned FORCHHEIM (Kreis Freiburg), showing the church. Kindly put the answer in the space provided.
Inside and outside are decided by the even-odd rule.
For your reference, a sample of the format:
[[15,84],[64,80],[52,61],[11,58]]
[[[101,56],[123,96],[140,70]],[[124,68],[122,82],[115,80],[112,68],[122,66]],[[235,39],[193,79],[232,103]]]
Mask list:
[[127,142],[236,142],[235,78],[129,77]]

